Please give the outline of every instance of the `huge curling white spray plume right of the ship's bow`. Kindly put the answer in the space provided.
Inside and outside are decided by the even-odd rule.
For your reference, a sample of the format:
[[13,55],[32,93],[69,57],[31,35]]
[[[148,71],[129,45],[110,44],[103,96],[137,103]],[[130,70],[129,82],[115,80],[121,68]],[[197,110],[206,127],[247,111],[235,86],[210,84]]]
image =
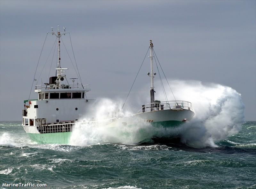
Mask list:
[[244,123],[244,103],[236,90],[199,81],[173,81],[174,94],[192,102],[195,117],[184,125],[181,142],[193,147],[216,146]]

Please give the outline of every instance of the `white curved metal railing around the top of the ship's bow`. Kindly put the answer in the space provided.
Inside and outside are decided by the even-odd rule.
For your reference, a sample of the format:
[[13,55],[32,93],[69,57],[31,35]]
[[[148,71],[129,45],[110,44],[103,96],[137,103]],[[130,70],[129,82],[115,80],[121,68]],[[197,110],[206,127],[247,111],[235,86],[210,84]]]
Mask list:
[[153,103],[148,103],[142,105],[140,110],[137,113],[143,112],[151,112],[157,110],[179,110],[179,109],[186,109],[193,111],[191,102],[183,101],[183,100],[173,100],[173,101],[155,101]]

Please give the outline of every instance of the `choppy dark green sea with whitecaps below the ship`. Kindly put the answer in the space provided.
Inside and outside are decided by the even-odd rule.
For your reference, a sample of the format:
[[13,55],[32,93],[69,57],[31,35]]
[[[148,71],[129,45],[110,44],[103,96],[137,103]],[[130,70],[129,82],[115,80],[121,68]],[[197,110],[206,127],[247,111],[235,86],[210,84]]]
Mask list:
[[[0,188],[256,188],[256,122],[237,134],[192,147],[180,139],[137,144],[38,145],[21,122],[0,125]],[[4,185],[5,184],[5,185]]]

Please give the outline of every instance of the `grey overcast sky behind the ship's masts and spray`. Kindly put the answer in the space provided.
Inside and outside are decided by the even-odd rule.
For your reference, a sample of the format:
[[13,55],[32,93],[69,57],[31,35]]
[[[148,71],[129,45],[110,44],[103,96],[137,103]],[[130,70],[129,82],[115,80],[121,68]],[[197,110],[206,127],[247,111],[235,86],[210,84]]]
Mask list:
[[[242,95],[245,119],[256,119],[256,1],[1,0],[1,120],[21,120],[46,32],[57,25],[71,32],[83,84],[91,84],[89,98],[125,99],[152,39],[170,80],[232,87]],[[62,39],[72,55],[69,36]],[[54,40],[47,36],[36,78]],[[61,50],[62,67],[76,76]],[[135,91],[150,85],[145,61]]]

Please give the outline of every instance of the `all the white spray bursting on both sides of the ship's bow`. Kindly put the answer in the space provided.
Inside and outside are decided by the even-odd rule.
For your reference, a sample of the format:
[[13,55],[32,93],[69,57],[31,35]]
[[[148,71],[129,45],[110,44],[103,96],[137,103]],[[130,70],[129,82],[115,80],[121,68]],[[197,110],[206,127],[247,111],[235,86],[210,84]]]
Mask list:
[[[159,85],[160,86],[160,85]],[[177,100],[192,103],[195,116],[192,120],[175,128],[156,128],[144,120],[132,120],[129,126],[109,127],[106,122],[76,124],[70,144],[77,146],[97,143],[139,144],[152,142],[151,138],[180,137],[181,142],[193,147],[216,146],[215,142],[224,140],[237,133],[244,122],[244,104],[241,95],[234,89],[220,84],[199,81],[172,81],[172,90]],[[158,90],[160,91],[160,90]],[[172,93],[166,90],[168,100]],[[156,99],[164,99],[156,93]],[[144,104],[144,99],[138,100]],[[128,116],[131,111],[122,112],[122,103],[110,99],[101,99],[93,106],[90,116],[84,120],[106,120],[113,117]]]

